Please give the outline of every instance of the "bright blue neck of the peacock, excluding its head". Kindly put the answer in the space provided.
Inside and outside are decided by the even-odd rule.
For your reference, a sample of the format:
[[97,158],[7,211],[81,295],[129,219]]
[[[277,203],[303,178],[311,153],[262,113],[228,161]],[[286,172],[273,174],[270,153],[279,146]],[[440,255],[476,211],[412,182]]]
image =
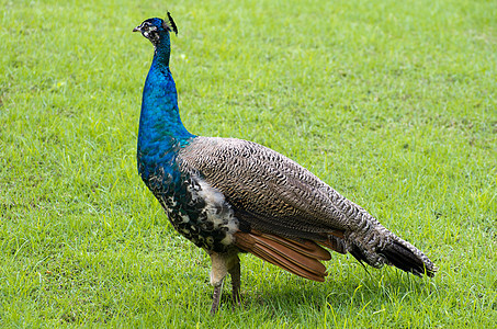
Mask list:
[[181,122],[178,93],[169,70],[171,44],[165,33],[155,44],[154,60],[145,81],[139,117],[138,150],[163,151],[172,144],[187,143],[194,137]]

